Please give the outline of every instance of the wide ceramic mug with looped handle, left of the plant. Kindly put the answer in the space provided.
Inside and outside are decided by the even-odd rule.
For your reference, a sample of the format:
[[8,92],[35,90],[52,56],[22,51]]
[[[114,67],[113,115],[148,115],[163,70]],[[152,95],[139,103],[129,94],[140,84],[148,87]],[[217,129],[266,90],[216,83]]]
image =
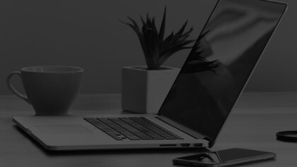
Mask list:
[[[11,85],[11,77],[23,81],[25,95]],[[36,115],[67,115],[78,95],[83,69],[66,66],[24,67],[8,75],[8,88],[33,106]]]

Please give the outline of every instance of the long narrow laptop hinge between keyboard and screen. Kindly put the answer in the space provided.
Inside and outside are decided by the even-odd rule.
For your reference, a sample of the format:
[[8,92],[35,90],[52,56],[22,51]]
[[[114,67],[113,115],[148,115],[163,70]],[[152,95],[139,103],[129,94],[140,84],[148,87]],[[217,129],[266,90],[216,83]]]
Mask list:
[[[156,117],[158,120],[161,120],[179,130],[181,130],[182,132],[185,132],[186,134],[189,134],[190,136],[196,138],[196,139],[206,139],[206,137],[204,137],[202,134],[199,134],[198,132],[194,132],[192,129],[189,129],[183,125],[180,125],[179,123],[170,120],[168,117],[164,117],[162,115],[158,115],[158,117]],[[208,140],[208,139],[206,139]]]

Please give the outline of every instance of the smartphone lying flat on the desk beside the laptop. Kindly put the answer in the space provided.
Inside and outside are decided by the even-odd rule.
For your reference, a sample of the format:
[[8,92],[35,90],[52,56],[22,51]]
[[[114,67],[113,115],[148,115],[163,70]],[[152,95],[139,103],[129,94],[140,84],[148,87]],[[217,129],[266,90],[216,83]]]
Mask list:
[[225,149],[221,151],[209,151],[192,156],[184,156],[173,159],[173,163],[190,166],[233,166],[240,163],[263,161],[274,159],[276,154],[266,151],[251,149]]

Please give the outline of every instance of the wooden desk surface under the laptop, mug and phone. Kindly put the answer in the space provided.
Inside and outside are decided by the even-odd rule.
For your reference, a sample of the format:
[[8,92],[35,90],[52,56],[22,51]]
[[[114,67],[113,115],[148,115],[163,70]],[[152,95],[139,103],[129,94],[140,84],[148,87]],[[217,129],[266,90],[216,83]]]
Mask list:
[[[81,95],[74,115],[123,113],[120,94]],[[173,166],[172,159],[202,150],[76,151],[43,149],[18,129],[11,117],[33,115],[16,96],[0,96],[0,166]],[[233,147],[273,151],[276,160],[245,166],[296,166],[297,143],[280,142],[275,133],[297,130],[297,93],[243,93],[211,150]]]

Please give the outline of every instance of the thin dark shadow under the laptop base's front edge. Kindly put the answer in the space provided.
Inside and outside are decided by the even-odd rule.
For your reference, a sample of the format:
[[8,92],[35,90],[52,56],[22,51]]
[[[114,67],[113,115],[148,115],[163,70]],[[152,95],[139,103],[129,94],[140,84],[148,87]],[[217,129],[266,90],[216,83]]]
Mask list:
[[47,154],[47,156],[69,156],[69,155],[88,155],[88,154],[173,154],[173,153],[188,153],[188,154],[198,154],[199,152],[209,151],[209,149],[204,148],[185,148],[185,149],[119,149],[119,150],[75,150],[75,151],[50,151],[45,149],[41,144],[39,144],[35,139],[30,137],[29,134],[25,133],[23,129],[17,125],[13,127],[23,134],[23,137],[30,140],[34,146],[40,149],[42,152]]

